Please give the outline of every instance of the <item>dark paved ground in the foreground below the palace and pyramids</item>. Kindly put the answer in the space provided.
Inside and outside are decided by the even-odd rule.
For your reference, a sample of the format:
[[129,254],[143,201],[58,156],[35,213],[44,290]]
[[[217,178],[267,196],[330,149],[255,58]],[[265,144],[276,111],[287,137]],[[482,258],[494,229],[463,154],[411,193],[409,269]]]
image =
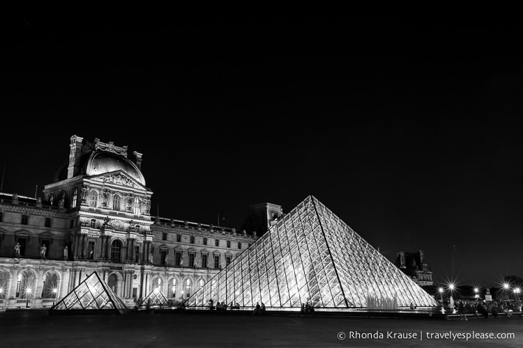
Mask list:
[[[467,335],[476,337],[467,339]],[[56,316],[20,310],[0,312],[0,342],[0,347],[10,348],[523,347],[523,317],[464,322],[427,317],[259,317],[159,311]]]

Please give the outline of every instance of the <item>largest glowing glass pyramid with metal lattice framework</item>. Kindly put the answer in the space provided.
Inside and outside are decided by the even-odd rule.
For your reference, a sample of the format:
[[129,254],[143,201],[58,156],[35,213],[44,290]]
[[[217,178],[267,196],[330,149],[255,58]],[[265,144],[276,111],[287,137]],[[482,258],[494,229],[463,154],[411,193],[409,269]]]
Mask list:
[[[314,196],[308,196],[188,299],[267,308],[437,306],[437,302]],[[386,308],[386,306],[382,306]]]

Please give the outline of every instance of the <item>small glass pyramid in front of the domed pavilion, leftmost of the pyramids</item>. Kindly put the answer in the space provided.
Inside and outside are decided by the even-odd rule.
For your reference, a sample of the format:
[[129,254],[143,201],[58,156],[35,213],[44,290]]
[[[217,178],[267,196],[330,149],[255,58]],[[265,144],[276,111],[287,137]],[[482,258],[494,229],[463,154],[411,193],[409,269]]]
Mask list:
[[127,306],[94,271],[50,310],[127,310]]

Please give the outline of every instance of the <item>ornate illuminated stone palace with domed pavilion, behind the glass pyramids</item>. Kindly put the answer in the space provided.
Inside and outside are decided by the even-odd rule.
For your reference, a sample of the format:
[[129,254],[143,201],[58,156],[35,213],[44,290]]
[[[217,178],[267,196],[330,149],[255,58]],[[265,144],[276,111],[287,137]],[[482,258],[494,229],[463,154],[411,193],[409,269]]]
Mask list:
[[[153,289],[176,304],[255,242],[256,232],[151,216],[141,162],[126,146],[72,136],[42,198],[0,193],[0,309],[50,308],[93,271],[129,308]],[[249,209],[250,226],[281,214]]]

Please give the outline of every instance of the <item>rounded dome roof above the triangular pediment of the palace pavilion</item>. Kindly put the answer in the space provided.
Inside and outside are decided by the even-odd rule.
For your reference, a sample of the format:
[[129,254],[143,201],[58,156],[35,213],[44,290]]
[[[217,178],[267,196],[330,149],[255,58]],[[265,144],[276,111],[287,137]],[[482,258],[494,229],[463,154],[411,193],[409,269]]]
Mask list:
[[137,182],[145,186],[145,179],[136,164],[126,157],[110,151],[95,150],[85,162],[84,173],[89,176],[111,173],[114,171],[124,171]]

